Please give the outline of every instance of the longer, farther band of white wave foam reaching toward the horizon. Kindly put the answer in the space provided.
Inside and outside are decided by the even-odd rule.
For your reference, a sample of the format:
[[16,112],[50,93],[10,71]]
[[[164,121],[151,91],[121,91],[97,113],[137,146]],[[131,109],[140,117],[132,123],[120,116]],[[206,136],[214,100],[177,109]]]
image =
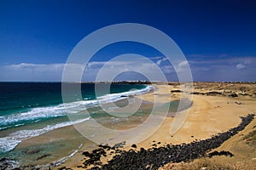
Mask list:
[[24,121],[38,121],[38,119],[42,118],[51,118],[57,116],[64,116],[66,114],[73,114],[78,113],[79,111],[83,111],[86,107],[89,106],[96,106],[99,103],[110,103],[117,101],[119,99],[124,99],[121,96],[129,96],[129,95],[138,95],[147,93],[152,86],[147,86],[146,88],[139,89],[139,90],[132,90],[129,92],[119,93],[119,94],[106,94],[104,96],[98,97],[95,100],[80,100],[71,103],[65,103],[60,105],[54,106],[47,106],[47,107],[36,107],[32,108],[30,111],[12,114],[9,116],[1,116],[0,117],[0,130],[4,129],[5,126],[14,125],[15,124],[22,125]]

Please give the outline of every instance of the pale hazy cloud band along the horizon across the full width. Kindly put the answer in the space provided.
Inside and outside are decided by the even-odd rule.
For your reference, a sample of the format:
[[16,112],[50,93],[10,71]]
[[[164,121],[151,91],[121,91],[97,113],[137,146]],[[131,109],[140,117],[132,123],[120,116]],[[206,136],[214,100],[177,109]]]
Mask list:
[[[125,61],[91,61],[86,65],[82,81],[95,81],[98,71],[103,65],[107,65],[104,74],[111,75],[114,71],[130,71],[130,75],[124,74],[120,80],[140,80],[143,77],[132,71],[139,71],[152,75],[158,80],[158,75],[152,69],[155,65],[166,75],[168,81],[177,81],[177,72],[183,72],[184,66],[190,66],[194,81],[209,82],[255,82],[256,81],[256,57],[233,57],[218,59],[190,59],[178,61],[171,65],[165,57],[152,58],[154,62],[143,63],[132,60]],[[0,65],[1,82],[61,82],[62,71],[66,64],[32,64],[20,63],[16,65]],[[72,65],[78,71],[83,71],[83,65]],[[176,68],[176,71],[174,70]],[[75,72],[73,74],[76,74]]]

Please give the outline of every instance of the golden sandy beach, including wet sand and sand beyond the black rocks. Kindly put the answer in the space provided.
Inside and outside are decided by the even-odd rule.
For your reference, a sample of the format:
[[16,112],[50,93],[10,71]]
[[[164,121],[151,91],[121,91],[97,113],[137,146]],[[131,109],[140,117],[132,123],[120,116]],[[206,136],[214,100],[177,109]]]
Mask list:
[[[157,96],[159,103],[166,103],[180,99],[183,96],[191,99],[193,104],[188,109],[179,111],[177,116],[166,116],[161,126],[149,138],[143,139],[143,141],[136,144],[137,148],[132,148],[131,144],[124,144],[124,147],[120,148],[120,150],[140,150],[140,148],[148,150],[153,146],[161,147],[166,144],[188,144],[195,140],[209,139],[212,135],[226,132],[230,128],[238,126],[241,122],[240,116],[247,116],[247,114],[256,112],[256,87],[253,83],[195,82],[193,91],[180,91],[177,82],[169,83],[168,86],[156,84],[154,87],[156,89],[154,92],[135,97],[144,101],[154,102]],[[237,96],[234,94],[237,94]],[[177,133],[170,133],[174,119],[178,119],[178,116],[186,114],[188,116],[181,123],[182,126],[178,129]],[[256,122],[254,119],[243,131],[237,133],[216,149],[218,151],[229,150],[234,156],[213,156],[210,160],[220,163],[250,161],[251,164],[256,165],[256,161],[253,161],[256,158],[255,139],[253,142],[243,139],[248,133],[253,130],[255,131],[255,125]],[[134,134],[133,138],[138,137]],[[18,145],[17,149],[26,148],[32,144],[48,143],[49,141],[57,141],[61,144],[62,139],[68,139],[69,144],[73,145],[73,150],[77,151],[74,155],[67,158],[63,164],[51,168],[58,169],[63,167],[65,169],[70,167],[72,169],[81,169],[94,167],[84,167],[83,163],[87,158],[82,153],[86,150],[95,150],[97,144],[84,139],[73,126],[62,127],[38,137],[26,139]],[[113,141],[115,140],[113,139]],[[63,152],[65,150],[57,151]],[[107,155],[101,157],[102,164],[108,163],[113,158],[113,155],[110,151],[107,151]],[[42,159],[42,163],[50,159],[52,159],[50,156],[48,159]],[[193,162],[201,159],[196,159]],[[160,168],[170,169],[171,167],[178,168],[182,166],[184,165],[180,165],[180,163],[173,164],[166,162],[166,165]]]

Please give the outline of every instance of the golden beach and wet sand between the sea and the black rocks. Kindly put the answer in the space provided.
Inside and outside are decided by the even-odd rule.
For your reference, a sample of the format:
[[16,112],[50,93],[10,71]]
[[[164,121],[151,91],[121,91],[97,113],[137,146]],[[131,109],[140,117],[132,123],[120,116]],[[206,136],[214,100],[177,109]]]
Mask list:
[[[231,86],[233,87],[232,89],[229,87],[230,83],[226,84],[228,84],[228,87],[223,88],[222,86],[224,86],[224,83],[195,82],[193,91],[191,92],[180,90],[180,83],[178,82],[170,82],[169,85],[154,85],[154,87],[156,87],[155,89],[157,90],[150,93],[131,96],[132,98],[142,99],[148,103],[154,103],[155,97],[157,97],[158,103],[161,104],[187,97],[188,99],[192,99],[193,104],[190,105],[190,107],[185,108],[185,110],[179,111],[177,116],[166,116],[160,127],[157,129],[152,128],[155,130],[152,135],[150,135],[147,139],[143,139],[139,143],[134,143],[136,144],[137,149],[131,147],[132,144],[121,144],[122,147],[119,150],[140,150],[141,148],[148,150],[152,147],[159,148],[166,144],[189,144],[195,140],[210,139],[213,135],[226,132],[230,128],[238,126],[241,122],[240,116],[247,116],[249,113],[256,112],[256,108],[253,105],[256,101],[256,98],[253,97],[255,89],[251,89],[253,84],[249,84],[249,86],[252,87],[248,87],[246,89],[247,93],[244,91],[239,92],[241,86],[243,87],[242,83],[238,84],[239,86],[238,88],[235,87],[235,90],[233,89],[233,86]],[[242,89],[244,90],[244,88]],[[238,94],[238,96],[234,97],[234,95],[230,94]],[[177,131],[177,133],[171,134],[170,127],[172,126],[174,119],[176,119],[179,115],[182,116],[186,114],[186,112],[189,114],[182,123],[182,127]],[[253,121],[253,123],[255,122]],[[125,128],[129,128],[129,126]],[[152,129],[148,128],[147,130],[150,131]],[[137,138],[136,135],[133,137]],[[65,142],[63,139],[67,141]],[[112,140],[113,145],[115,144],[115,139],[113,138]],[[25,141],[22,141],[15,148],[15,150],[24,150],[24,148],[37,144],[47,144],[49,141],[59,144],[60,146],[62,143],[67,145],[70,144],[72,146],[71,148],[73,148],[73,150],[69,151],[61,150],[61,147],[56,148],[56,151],[59,152],[60,155],[66,153],[65,156],[70,156],[65,160],[51,161],[56,158],[47,156],[46,153],[44,159],[42,159],[42,165],[45,164],[44,162],[51,162],[51,164],[48,166],[46,165],[46,167],[50,167],[52,169],[58,169],[61,167],[81,169],[84,167],[84,160],[88,158],[86,158],[86,156],[84,157],[84,151],[90,152],[98,148],[98,144],[85,139],[75,127],[68,126],[57,128],[38,137],[26,139]],[[233,151],[232,153],[235,152]],[[255,152],[253,153],[255,154]],[[253,153],[250,153],[251,155],[247,157],[247,160],[253,158]],[[101,157],[103,164],[108,163],[108,161],[113,158],[114,154],[109,154],[110,152],[108,152],[106,157]],[[247,155],[246,153],[242,154]],[[237,158],[235,155],[235,158],[236,161],[241,160],[241,157],[239,156]]]

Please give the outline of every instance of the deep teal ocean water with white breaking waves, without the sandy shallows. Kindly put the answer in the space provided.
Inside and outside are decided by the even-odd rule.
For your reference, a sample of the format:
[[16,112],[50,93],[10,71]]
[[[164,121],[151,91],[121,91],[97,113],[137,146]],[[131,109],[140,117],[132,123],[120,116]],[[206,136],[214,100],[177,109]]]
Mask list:
[[[102,83],[102,87],[104,84]],[[97,88],[101,86],[97,86]],[[14,150],[25,139],[47,133],[90,117],[70,122],[67,112],[77,114],[88,106],[96,106],[131,94],[143,94],[152,87],[143,84],[113,83],[109,94],[95,94],[95,83],[82,83],[83,99],[63,105],[61,82],[1,82],[0,83],[0,153]],[[101,90],[100,90],[101,91]],[[68,109],[67,109],[68,107]],[[0,157],[1,157],[0,156]]]

